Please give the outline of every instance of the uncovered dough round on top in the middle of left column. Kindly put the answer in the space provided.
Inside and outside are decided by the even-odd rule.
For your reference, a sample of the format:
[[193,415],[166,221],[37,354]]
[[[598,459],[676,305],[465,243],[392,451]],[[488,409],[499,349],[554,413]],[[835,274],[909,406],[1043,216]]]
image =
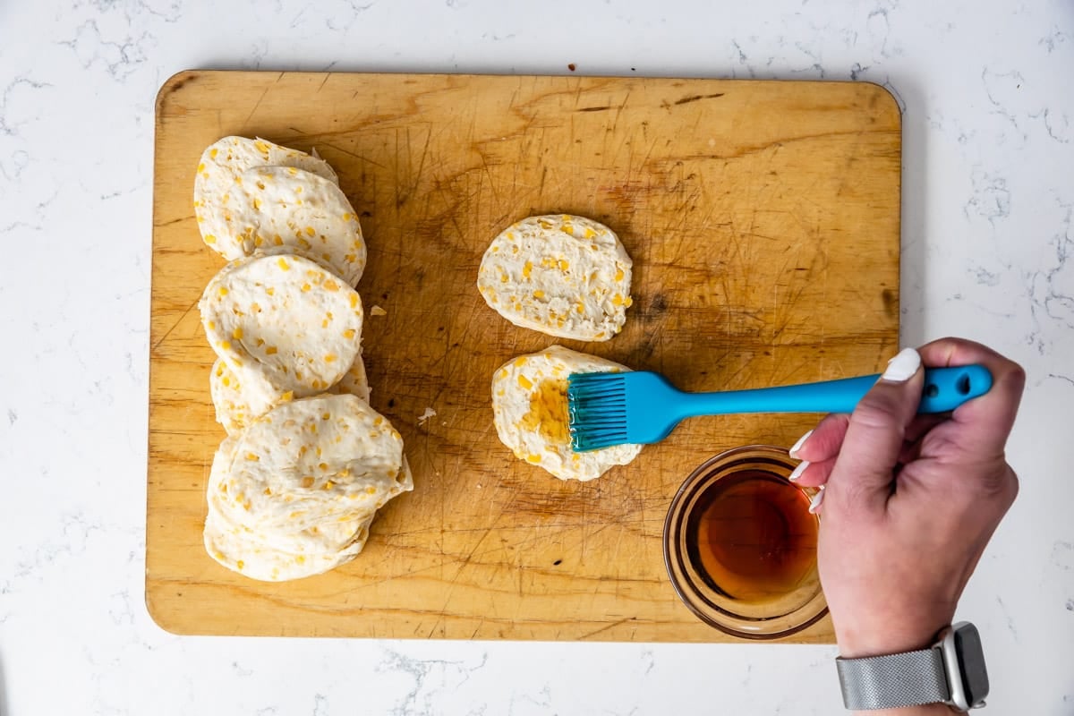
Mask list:
[[205,287],[199,308],[250,412],[329,390],[361,351],[358,292],[302,257],[232,262]]

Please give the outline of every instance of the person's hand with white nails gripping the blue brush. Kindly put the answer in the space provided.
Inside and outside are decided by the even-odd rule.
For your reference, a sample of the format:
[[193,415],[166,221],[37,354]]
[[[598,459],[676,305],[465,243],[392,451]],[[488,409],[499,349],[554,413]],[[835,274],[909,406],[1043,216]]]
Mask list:
[[[949,415],[917,415],[923,362],[982,364],[992,388]],[[828,415],[792,450],[803,461],[792,477],[823,486],[817,558],[841,656],[927,647],[950,624],[1018,492],[1004,445],[1024,385],[988,348],[937,340],[899,353],[853,414]]]

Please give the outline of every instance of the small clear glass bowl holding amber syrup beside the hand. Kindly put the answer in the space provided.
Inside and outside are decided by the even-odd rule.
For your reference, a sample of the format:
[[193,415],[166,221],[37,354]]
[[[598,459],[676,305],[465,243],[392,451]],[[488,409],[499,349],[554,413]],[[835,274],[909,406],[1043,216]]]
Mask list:
[[664,562],[683,603],[742,639],[780,639],[828,613],[816,568],[815,489],[787,480],[796,462],[746,445],[705,462],[671,501]]

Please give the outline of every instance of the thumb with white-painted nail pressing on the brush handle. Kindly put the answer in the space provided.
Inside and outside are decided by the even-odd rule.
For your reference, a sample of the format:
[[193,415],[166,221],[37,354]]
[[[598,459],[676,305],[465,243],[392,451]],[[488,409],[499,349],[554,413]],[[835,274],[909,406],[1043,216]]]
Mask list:
[[925,378],[921,356],[903,349],[858,401],[828,478],[828,509],[882,510],[891,495],[906,427],[917,414]]

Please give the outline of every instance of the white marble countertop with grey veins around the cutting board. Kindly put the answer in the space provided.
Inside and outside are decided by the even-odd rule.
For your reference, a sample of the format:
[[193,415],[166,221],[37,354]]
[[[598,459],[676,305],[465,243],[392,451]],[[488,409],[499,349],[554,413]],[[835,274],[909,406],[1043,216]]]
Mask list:
[[1074,5],[526,4],[0,3],[0,714],[841,712],[832,647],[179,638],[146,613],[161,83],[568,63],[856,78],[900,99],[903,342],[966,335],[1029,372],[1010,444],[1021,494],[960,616],[986,640],[988,713],[1074,714]]

